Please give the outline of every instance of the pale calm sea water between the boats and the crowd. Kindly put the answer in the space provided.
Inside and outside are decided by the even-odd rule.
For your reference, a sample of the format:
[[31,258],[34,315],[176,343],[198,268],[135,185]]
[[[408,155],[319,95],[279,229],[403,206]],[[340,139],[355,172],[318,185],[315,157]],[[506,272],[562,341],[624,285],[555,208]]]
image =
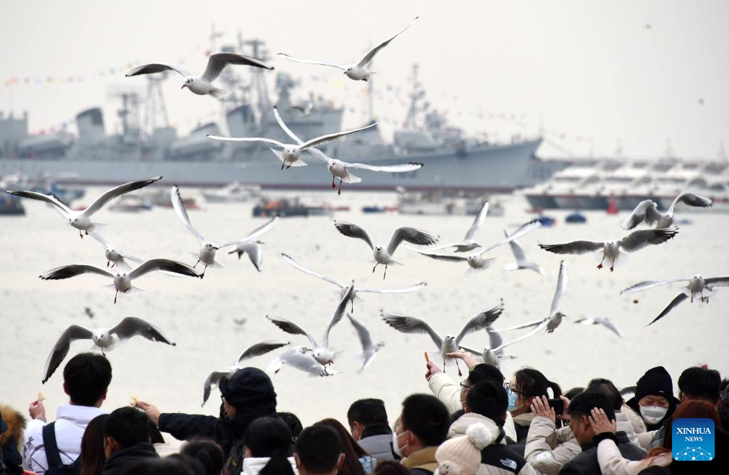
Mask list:
[[[90,190],[93,197],[96,190]],[[194,190],[183,190],[195,195]],[[378,243],[386,244],[401,225],[426,229],[441,236],[442,242],[462,238],[472,217],[400,216],[395,213],[364,215],[367,204],[394,204],[394,195],[358,194],[344,190],[341,197],[329,193],[308,193],[308,200],[327,200],[351,206],[338,212],[336,219],[354,221],[369,230]],[[85,203],[85,200],[82,200]],[[202,234],[214,241],[243,237],[265,219],[252,218],[249,204],[206,204],[190,218]],[[490,216],[477,235],[482,243],[502,238],[502,229],[521,224],[532,216],[526,213],[521,197],[503,197],[506,213]],[[379,317],[379,310],[405,313],[428,321],[441,334],[455,334],[468,318],[504,299],[505,310],[497,326],[513,326],[547,315],[555,290],[562,256],[548,254],[541,243],[569,240],[604,240],[622,237],[620,222],[625,214],[608,216],[587,213],[588,224],[564,224],[564,212],[550,213],[558,225],[538,229],[521,239],[529,259],[542,265],[547,277],[530,271],[507,272],[511,262],[508,246],[491,253],[496,265],[486,272],[467,274],[467,264],[436,262],[400,248],[396,258],[405,264],[389,267],[386,280],[382,270],[372,273],[370,250],[362,241],[340,235],[332,218],[282,219],[262,237],[263,272],[258,273],[244,256],[219,252],[223,269],[208,269],[203,280],[148,275],[136,285],[145,292],[121,298],[114,305],[114,291],[102,287],[107,282],[95,275],[60,281],[43,281],[42,272],[64,264],[85,263],[103,267],[103,248],[93,239],[79,239],[75,229],[63,224],[54,211],[42,203],[28,202],[25,217],[0,218],[0,335],[3,384],[0,401],[25,410],[42,390],[49,414],[66,403],[61,388],[62,369],[41,385],[42,371],[52,345],[72,323],[90,328],[110,327],[126,316],[155,323],[177,343],[176,347],[133,339],[109,353],[114,378],[105,409],[127,404],[129,396],[157,404],[165,412],[198,412],[217,415],[218,392],[200,408],[203,380],[211,370],[225,369],[248,345],[264,339],[284,339],[305,344],[304,337],[284,334],[265,315],[288,318],[321,337],[324,326],[338,303],[337,288],[330,283],[298,272],[281,259],[290,254],[306,267],[330,275],[341,282],[356,280],[358,286],[410,286],[421,280],[424,291],[404,295],[363,295],[355,304],[354,315],[370,327],[382,348],[373,364],[360,374],[355,356],[358,341],[350,323],[342,321],[332,330],[331,342],[346,350],[333,369],[335,377],[309,377],[284,366],[271,374],[280,410],[295,412],[305,425],[323,417],[346,420],[352,401],[378,397],[386,401],[391,419],[410,393],[428,392],[424,379],[424,350],[434,350],[426,335],[405,335],[391,329]],[[522,366],[541,370],[563,388],[585,385],[592,377],[607,377],[618,386],[631,385],[648,368],[664,365],[674,377],[687,366],[709,364],[723,375],[729,371],[729,295],[714,292],[709,305],[685,302],[666,318],[647,327],[655,315],[674,298],[679,288],[663,287],[643,294],[620,296],[620,290],[640,280],[676,278],[701,273],[727,275],[729,253],[726,235],[729,216],[678,211],[693,224],[684,225],[677,238],[660,246],[639,251],[615,272],[597,270],[592,256],[565,256],[569,285],[562,310],[572,318],[553,334],[543,334],[510,348],[518,356],[502,366],[512,374]],[[167,257],[190,264],[197,241],[177,219],[171,208],[155,208],[144,213],[101,211],[98,221],[109,223],[107,239],[142,258]],[[633,299],[637,298],[638,303]],[[93,310],[90,320],[85,307]],[[575,325],[584,315],[607,316],[625,334],[624,339],[598,326]],[[234,319],[247,318],[242,327]],[[518,331],[504,334],[504,339]],[[475,348],[487,345],[479,332],[464,339]],[[71,355],[91,347],[90,342],[74,342]],[[69,356],[70,358],[70,356]],[[272,356],[250,360],[265,369]],[[455,372],[451,372],[457,378]]]

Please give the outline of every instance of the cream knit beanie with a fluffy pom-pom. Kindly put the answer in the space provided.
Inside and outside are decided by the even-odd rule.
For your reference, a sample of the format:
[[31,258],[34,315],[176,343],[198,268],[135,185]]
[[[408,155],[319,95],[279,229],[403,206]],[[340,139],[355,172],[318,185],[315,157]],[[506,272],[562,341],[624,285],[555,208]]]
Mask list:
[[494,434],[483,423],[473,423],[466,435],[453,437],[435,451],[440,475],[475,475],[481,464],[481,450],[494,441]]

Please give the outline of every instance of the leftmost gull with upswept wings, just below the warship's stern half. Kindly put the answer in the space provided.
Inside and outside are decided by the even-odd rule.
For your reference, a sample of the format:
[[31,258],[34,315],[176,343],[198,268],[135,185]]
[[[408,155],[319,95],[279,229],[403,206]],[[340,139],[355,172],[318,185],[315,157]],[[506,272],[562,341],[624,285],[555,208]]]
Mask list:
[[56,197],[55,195],[44,195],[43,193],[38,192],[14,192],[7,190],[6,193],[23,198],[31,198],[31,200],[39,200],[49,203],[50,205],[52,205],[55,211],[58,211],[58,214],[63,216],[63,219],[68,220],[69,224],[71,224],[72,227],[75,227],[79,230],[79,236],[84,237],[82,231],[84,231],[85,234],[88,235],[90,232],[94,232],[98,229],[103,229],[104,227],[106,227],[106,224],[94,223],[91,221],[91,216],[93,215],[93,213],[99,211],[101,208],[104,208],[104,205],[106,205],[106,203],[109,203],[109,201],[113,200],[114,198],[120,197],[125,193],[133,192],[136,189],[147,187],[147,185],[152,184],[155,181],[160,180],[161,178],[161,176],[155,176],[154,178],[144,178],[144,180],[131,181],[130,183],[119,185],[118,187],[112,188],[108,192],[105,192],[103,195],[96,198],[94,202],[91,203],[84,211],[71,210],[71,208],[66,206],[66,204],[59,200],[58,197]]

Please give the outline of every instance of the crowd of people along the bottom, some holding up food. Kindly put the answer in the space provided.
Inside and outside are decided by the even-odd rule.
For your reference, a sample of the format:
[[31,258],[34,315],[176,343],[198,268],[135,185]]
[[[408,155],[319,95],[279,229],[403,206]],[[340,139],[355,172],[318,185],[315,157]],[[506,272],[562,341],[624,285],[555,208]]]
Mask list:
[[[30,404],[30,420],[0,406],[0,475],[729,473],[728,381],[714,369],[687,368],[678,397],[662,366],[634,388],[595,378],[563,393],[537,369],[507,379],[468,353],[456,357],[469,368],[462,382],[428,362],[432,394],[410,394],[396,414],[380,399],[359,399],[348,428],[335,418],[304,428],[295,414],[277,412],[273,383],[252,367],[221,381],[219,417],[162,412],[145,401],[106,412],[112,367],[80,353],[63,369],[69,404],[54,422],[40,400]],[[674,459],[678,418],[714,421],[713,460]],[[185,441],[178,453],[160,457],[163,433]]]

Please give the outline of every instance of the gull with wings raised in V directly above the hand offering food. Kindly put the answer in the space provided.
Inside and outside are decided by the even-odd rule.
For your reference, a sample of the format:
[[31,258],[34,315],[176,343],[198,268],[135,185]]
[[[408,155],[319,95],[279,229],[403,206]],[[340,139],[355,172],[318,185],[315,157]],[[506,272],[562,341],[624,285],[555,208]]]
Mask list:
[[[491,325],[491,323],[494,323],[496,318],[499,318],[499,315],[501,315],[503,311],[504,302],[502,301],[499,305],[496,305],[496,307],[492,307],[482,313],[479,313],[467,321],[456,337],[453,337],[450,334],[445,335],[445,337],[441,337],[440,334],[437,334],[434,329],[428,325],[428,323],[422,321],[420,318],[384,312],[381,312],[381,317],[389,326],[397,331],[402,331],[402,333],[428,334],[435,343],[435,346],[438,348],[437,352],[432,353],[432,357],[439,361],[443,361],[443,370],[445,371],[445,366],[453,359],[456,359],[446,355],[448,353],[456,353],[459,350],[461,339],[469,333],[485,329],[487,326]],[[461,376],[461,368],[458,365],[457,359],[456,368],[458,368],[458,374]]]

